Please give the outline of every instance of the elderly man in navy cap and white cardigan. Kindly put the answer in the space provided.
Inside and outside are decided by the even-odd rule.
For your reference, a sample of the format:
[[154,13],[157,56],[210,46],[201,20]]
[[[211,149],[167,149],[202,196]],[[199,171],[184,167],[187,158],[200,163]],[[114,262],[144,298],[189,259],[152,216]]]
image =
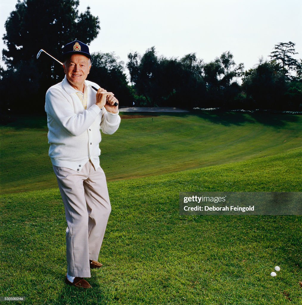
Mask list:
[[[106,177],[99,164],[100,129],[119,127],[118,101],[112,92],[86,81],[91,67],[87,45],[73,41],[63,49],[62,82],[46,92],[49,156],[63,199],[66,229],[65,282],[91,288],[84,279],[102,266],[99,251],[111,211]],[[115,106],[117,105],[117,106]]]

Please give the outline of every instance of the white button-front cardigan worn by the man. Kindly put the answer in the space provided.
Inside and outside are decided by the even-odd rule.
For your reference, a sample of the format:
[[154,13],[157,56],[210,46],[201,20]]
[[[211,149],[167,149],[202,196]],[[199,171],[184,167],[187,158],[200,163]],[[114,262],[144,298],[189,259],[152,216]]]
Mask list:
[[76,92],[67,81],[50,87],[46,92],[49,156],[53,165],[81,171],[83,165],[92,161],[95,169],[100,166],[100,129],[113,134],[120,125],[120,116],[101,110],[95,105],[95,90],[99,86],[85,81],[87,86],[87,110],[84,109]]

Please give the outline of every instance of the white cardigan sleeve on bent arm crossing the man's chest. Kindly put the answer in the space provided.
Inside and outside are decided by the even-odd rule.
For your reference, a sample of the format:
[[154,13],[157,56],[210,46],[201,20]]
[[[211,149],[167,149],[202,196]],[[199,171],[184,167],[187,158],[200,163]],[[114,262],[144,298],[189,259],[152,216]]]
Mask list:
[[93,105],[83,113],[74,113],[66,97],[59,90],[52,89],[46,93],[45,111],[70,135],[79,136],[91,126],[101,109]]

